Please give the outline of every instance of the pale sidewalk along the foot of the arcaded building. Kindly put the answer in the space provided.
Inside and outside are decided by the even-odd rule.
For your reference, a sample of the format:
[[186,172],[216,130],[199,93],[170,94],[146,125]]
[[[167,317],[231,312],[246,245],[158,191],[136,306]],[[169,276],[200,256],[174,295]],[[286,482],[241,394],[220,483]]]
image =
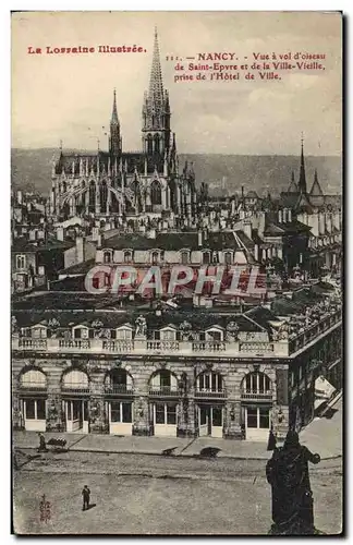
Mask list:
[[[46,433],[50,437],[64,437],[69,450],[77,452],[106,452],[131,455],[163,455],[195,457],[203,456],[203,449],[215,449],[217,458],[233,459],[269,459],[267,443],[240,441],[197,437],[182,439],[179,437],[136,437],[113,435],[82,435],[73,433]],[[342,400],[339,400],[330,412],[321,419],[315,419],[300,434],[302,445],[312,452],[318,452],[321,459],[332,459],[342,456]],[[13,444],[17,449],[37,449],[36,432],[14,432]],[[204,453],[206,455],[206,453]]]

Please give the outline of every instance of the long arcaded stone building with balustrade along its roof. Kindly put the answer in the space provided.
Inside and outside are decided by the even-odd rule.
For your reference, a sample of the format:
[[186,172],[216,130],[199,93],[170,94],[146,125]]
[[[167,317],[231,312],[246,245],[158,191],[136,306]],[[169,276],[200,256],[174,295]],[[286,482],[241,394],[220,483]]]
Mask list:
[[342,387],[339,300],[306,308],[14,312],[14,427],[283,437],[313,419],[318,376]]

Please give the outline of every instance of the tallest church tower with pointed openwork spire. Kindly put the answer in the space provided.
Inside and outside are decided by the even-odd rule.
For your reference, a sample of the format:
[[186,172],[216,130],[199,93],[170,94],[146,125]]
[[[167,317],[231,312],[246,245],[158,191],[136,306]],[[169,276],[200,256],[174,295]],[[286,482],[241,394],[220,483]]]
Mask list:
[[165,156],[170,146],[170,106],[168,92],[163,89],[157,29],[155,31],[154,56],[149,88],[143,105],[143,150],[147,155]]

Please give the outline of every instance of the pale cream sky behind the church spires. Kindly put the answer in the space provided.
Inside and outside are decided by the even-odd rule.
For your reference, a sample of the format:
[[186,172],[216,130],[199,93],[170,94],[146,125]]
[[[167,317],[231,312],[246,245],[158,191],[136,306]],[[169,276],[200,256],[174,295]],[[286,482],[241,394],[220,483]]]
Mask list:
[[[123,150],[141,149],[155,26],[179,153],[297,155],[303,133],[306,155],[341,155],[341,16],[319,12],[14,13],[12,146],[62,141],[63,148],[96,149],[99,138],[106,149],[115,88]],[[146,52],[45,53],[47,46],[106,44]],[[28,55],[28,46],[44,52]],[[174,83],[175,62],[166,57],[198,52],[325,53],[325,71],[283,71],[281,81]]]

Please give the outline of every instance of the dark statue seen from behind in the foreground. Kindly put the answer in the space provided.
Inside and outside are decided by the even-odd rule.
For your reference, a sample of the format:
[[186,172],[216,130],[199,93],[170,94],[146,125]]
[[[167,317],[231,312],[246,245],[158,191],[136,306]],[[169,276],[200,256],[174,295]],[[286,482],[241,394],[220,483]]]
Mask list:
[[314,501],[307,462],[318,463],[313,455],[300,445],[296,432],[288,432],[282,448],[273,450],[267,462],[266,476],[272,487],[272,535],[312,535]]

